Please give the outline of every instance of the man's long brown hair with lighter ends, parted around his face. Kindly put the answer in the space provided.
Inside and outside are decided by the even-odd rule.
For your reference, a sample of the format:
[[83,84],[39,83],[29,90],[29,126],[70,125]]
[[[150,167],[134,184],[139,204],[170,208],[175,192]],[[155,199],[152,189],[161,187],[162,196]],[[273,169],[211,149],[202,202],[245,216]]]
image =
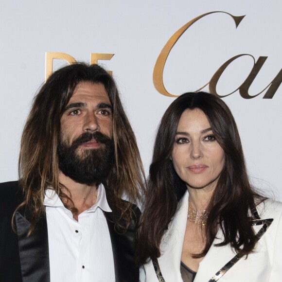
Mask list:
[[103,184],[116,226],[126,228],[133,212],[131,205],[122,201],[122,195],[136,202],[144,191],[144,172],[137,142],[113,78],[98,65],[76,63],[63,67],[48,78],[35,96],[22,133],[18,173],[25,197],[18,209],[28,207],[32,212],[29,234],[45,211],[45,190],[52,188],[61,198],[66,196],[58,178],[60,119],[81,82],[103,84],[113,107],[115,163]]

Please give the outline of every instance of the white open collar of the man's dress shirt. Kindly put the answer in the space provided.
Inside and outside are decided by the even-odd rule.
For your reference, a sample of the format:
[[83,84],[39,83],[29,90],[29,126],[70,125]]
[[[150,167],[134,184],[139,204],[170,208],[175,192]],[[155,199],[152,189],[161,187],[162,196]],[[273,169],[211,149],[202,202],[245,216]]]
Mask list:
[[[47,207],[64,207],[58,194],[53,189],[46,189],[43,204]],[[112,212],[106,199],[106,191],[103,184],[100,184],[97,188],[96,203],[85,212],[95,212],[97,208],[104,212]]]

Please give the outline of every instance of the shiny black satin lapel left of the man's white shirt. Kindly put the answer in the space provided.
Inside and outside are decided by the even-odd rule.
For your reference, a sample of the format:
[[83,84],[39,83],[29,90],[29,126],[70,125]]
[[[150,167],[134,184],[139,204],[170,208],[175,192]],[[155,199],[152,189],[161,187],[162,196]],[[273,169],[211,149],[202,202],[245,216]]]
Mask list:
[[19,258],[23,282],[50,282],[49,246],[46,215],[27,237],[30,212],[26,209],[15,214],[18,233]]

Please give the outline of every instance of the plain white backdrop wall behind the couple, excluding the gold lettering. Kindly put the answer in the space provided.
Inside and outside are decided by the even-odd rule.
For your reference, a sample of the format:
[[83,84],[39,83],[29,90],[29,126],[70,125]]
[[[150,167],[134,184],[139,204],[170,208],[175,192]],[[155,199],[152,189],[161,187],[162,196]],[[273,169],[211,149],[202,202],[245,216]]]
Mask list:
[[[229,65],[216,90],[224,96],[242,85],[253,68],[252,55],[255,62],[267,57],[249,88],[251,96],[261,92],[282,67],[281,0],[1,0],[0,182],[18,178],[20,135],[44,82],[46,52],[88,62],[90,53],[114,54],[99,62],[113,71],[147,172],[157,125],[175,99],[154,87],[157,58],[177,30],[212,11],[246,16],[237,29],[224,13],[189,27],[167,58],[165,88],[174,95],[201,88],[230,58],[249,54]],[[65,63],[54,60],[54,69]],[[267,89],[252,99],[237,90],[223,100],[238,124],[254,183],[282,199],[282,86],[272,99],[263,99]]]

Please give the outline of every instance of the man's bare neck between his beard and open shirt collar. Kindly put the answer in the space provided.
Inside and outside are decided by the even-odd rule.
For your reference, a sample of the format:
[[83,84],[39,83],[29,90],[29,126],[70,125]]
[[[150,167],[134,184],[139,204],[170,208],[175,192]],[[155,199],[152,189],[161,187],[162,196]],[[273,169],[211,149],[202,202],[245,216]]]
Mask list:
[[[70,177],[65,176],[62,172],[59,175],[59,181],[68,189],[63,192],[71,198],[74,208],[77,209],[78,213],[77,215],[74,215],[73,218],[78,220],[78,214],[88,210],[96,203],[97,187],[95,184],[87,185],[77,183]],[[65,198],[62,198],[61,200],[64,205],[70,205],[70,202]]]

